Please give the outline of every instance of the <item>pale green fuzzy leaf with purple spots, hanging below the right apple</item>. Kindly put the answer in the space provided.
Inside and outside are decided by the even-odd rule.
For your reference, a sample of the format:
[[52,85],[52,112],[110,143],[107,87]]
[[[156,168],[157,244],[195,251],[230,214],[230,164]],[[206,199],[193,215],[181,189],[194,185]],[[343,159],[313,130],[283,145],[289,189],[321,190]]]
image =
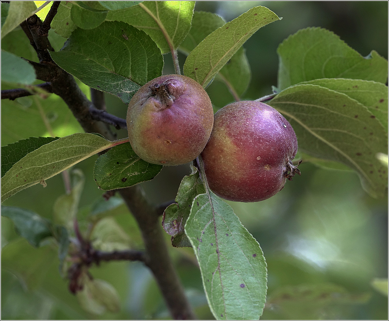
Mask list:
[[258,320],[266,299],[266,262],[230,205],[212,191],[193,200],[185,232],[218,320]]

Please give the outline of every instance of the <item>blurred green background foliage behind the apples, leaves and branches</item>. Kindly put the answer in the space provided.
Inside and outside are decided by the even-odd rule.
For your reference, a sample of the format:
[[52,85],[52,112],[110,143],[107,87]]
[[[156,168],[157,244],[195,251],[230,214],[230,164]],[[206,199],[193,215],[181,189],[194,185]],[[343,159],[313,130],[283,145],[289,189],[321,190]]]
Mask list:
[[[363,56],[376,50],[388,57],[388,2],[201,1],[195,10],[215,12],[230,21],[251,7],[263,5],[281,21],[259,29],[245,44],[252,78],[243,99],[270,94],[277,85],[276,49],[301,28],[323,27],[340,36]],[[50,34],[57,50],[64,39]],[[16,29],[2,48],[37,60],[23,31]],[[164,74],[173,73],[169,54]],[[185,56],[180,54],[180,64]],[[89,95],[88,88],[81,84]],[[2,89],[6,87],[2,86]],[[221,108],[233,101],[223,83],[208,88],[212,103]],[[127,107],[105,95],[110,113],[125,118]],[[80,131],[65,104],[55,95],[42,102],[54,134]],[[36,120],[36,121],[35,121]],[[2,101],[2,146],[29,136],[45,135],[39,111],[30,97]],[[118,138],[126,137],[124,130]],[[101,198],[93,181],[91,157],[76,165],[85,175],[80,215]],[[268,301],[261,319],[387,319],[387,297],[371,286],[387,278],[387,200],[375,200],[361,188],[354,172],[300,165],[301,177],[287,182],[282,192],[259,203],[228,202],[242,224],[258,240],[268,264]],[[165,167],[152,181],[142,183],[147,198],[161,203],[175,198],[189,166]],[[47,187],[33,186],[4,202],[51,218],[53,204],[64,191],[61,175]],[[139,232],[125,206],[114,219],[128,233],[133,247],[142,247]],[[12,222],[2,217],[2,319],[168,319],[166,306],[151,273],[142,264],[110,262],[93,267],[95,278],[109,281],[122,300],[118,314],[100,316],[81,309],[58,272],[55,248],[33,248],[19,238]],[[166,234],[166,242],[170,243]],[[172,248],[171,254],[199,319],[213,319],[206,304],[200,272],[191,248]]]

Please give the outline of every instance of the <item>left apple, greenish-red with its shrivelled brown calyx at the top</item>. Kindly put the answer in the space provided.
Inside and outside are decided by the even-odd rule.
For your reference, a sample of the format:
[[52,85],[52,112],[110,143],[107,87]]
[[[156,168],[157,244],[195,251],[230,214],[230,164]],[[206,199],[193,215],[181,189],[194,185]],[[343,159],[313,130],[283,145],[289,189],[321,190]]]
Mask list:
[[213,121],[207,92],[182,75],[146,83],[132,97],[127,111],[131,147],[143,160],[159,165],[194,160],[208,142]]

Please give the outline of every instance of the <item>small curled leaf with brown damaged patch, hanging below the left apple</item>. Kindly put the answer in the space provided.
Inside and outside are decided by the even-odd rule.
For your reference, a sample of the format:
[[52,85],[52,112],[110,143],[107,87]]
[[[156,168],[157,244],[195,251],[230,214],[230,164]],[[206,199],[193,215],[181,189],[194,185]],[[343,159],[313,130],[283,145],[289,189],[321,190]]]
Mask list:
[[204,185],[200,180],[197,168],[192,167],[192,174],[185,176],[178,188],[175,201],[163,212],[163,229],[172,236],[172,245],[175,247],[191,246],[184,230],[186,220],[191,212],[193,199],[205,193]]

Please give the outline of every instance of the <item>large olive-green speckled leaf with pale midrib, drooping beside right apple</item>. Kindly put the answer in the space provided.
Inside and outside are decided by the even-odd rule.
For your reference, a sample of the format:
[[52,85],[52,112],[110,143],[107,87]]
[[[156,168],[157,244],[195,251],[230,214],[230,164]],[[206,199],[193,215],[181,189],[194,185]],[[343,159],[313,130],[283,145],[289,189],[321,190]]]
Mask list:
[[387,151],[382,124],[349,96],[317,85],[289,87],[268,103],[291,123],[299,149],[356,170],[372,196],[386,195],[387,170],[375,158]]

